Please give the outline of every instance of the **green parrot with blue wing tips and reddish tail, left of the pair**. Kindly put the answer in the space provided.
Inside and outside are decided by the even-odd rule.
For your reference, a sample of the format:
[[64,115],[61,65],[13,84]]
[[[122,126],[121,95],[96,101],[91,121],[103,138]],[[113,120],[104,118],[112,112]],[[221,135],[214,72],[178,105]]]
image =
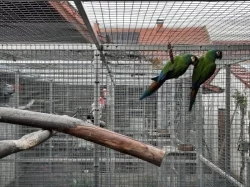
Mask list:
[[174,63],[168,61],[160,72],[160,75],[152,78],[154,82],[152,82],[152,84],[144,91],[140,100],[156,92],[166,80],[173,78],[177,79],[183,75],[187,71],[189,65],[195,63],[198,63],[198,58],[192,54],[176,56],[174,58]]

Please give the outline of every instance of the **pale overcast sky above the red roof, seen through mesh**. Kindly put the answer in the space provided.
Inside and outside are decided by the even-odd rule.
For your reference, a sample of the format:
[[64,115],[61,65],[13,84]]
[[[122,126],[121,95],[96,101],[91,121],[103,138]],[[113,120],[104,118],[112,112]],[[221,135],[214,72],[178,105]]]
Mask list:
[[101,28],[206,26],[212,40],[250,40],[250,2],[94,1],[84,2],[91,23]]

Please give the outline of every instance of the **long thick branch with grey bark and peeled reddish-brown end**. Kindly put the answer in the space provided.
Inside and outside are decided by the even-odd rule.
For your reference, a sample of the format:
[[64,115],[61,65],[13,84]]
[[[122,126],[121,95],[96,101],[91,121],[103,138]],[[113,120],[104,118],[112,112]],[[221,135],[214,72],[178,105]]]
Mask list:
[[0,107],[0,122],[55,130],[82,138],[160,166],[165,152],[152,145],[68,116]]

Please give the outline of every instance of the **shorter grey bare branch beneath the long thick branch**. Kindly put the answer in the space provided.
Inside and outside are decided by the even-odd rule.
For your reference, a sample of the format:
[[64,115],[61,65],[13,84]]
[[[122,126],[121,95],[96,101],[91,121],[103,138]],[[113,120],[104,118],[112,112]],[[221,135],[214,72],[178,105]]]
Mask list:
[[27,149],[31,149],[53,136],[53,132],[49,130],[39,130],[27,134],[19,140],[3,140],[0,141],[0,158],[17,153]]

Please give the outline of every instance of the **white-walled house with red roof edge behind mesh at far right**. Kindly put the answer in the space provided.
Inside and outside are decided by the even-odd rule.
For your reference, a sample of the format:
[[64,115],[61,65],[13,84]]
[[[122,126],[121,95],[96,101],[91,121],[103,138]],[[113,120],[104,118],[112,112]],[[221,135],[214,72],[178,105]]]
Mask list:
[[[240,142],[249,142],[249,108],[250,108],[250,71],[249,63],[235,64],[230,67],[230,120],[232,120],[230,131],[230,154],[231,154],[231,170],[234,175],[240,175],[241,152],[238,150]],[[210,148],[212,161],[219,162],[221,165],[225,164],[224,157],[221,157],[221,149],[225,137],[226,124],[226,70],[217,70],[215,76],[212,76],[208,81],[213,86],[209,94],[202,94],[203,114],[204,114],[204,131],[205,140]],[[206,90],[206,84],[203,85],[203,90]],[[219,91],[221,90],[221,91]],[[224,90],[224,91],[222,91]],[[236,99],[233,97],[238,91],[244,94],[247,98],[246,114],[244,115],[244,124],[242,124],[242,113],[240,107],[236,108]],[[199,104],[199,103],[196,103]],[[241,125],[243,125],[243,139],[241,136]],[[218,149],[212,149],[218,147]],[[246,153],[245,153],[246,154]],[[246,168],[244,168],[246,169]],[[245,176],[244,176],[245,177]]]

